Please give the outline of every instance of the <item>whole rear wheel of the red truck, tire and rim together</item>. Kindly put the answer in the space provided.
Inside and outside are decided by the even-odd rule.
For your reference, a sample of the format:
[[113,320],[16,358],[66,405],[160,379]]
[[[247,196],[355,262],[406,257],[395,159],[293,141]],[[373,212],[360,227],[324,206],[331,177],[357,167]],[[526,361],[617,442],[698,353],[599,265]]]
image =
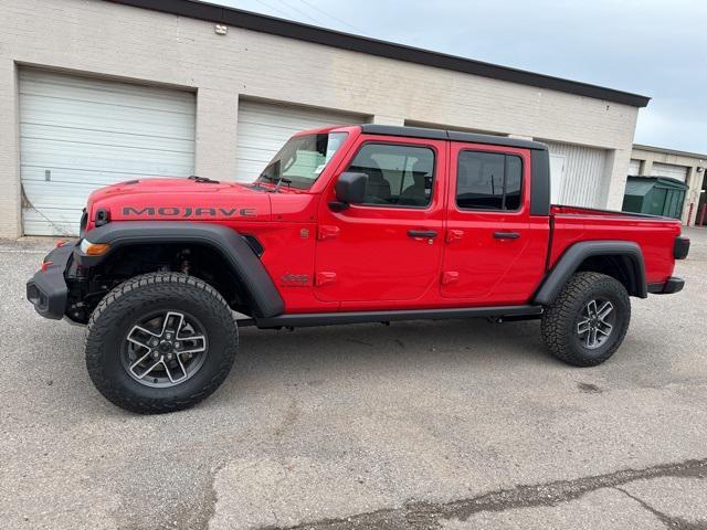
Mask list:
[[599,273],[577,273],[546,307],[542,338],[550,352],[576,367],[594,367],[623,342],[631,321],[625,287]]

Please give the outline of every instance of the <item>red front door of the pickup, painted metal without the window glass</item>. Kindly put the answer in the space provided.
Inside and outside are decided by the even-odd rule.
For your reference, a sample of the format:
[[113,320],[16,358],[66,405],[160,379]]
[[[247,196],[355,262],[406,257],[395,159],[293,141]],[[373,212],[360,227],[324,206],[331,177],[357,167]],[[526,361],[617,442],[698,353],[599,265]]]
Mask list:
[[[443,239],[410,237],[408,231],[433,230],[442,234],[446,145],[440,140],[361,135],[351,145],[349,159],[367,142],[431,148],[437,176],[431,204],[425,209],[351,205],[334,212],[328,205],[336,200],[335,179],[330,179],[319,203],[318,221],[321,226],[336,226],[338,231],[336,236],[317,243],[316,269],[337,273],[337,282],[318,287],[316,296],[340,301],[346,310],[434,307],[440,301],[436,286]],[[337,173],[347,167],[345,160]]]

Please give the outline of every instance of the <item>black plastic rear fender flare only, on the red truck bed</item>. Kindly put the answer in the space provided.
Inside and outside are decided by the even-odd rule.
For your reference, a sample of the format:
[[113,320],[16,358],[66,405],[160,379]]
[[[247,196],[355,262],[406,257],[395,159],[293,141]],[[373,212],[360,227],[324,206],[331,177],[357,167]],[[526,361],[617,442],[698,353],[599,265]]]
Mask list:
[[632,296],[648,296],[645,282],[645,264],[641,247],[631,241],[583,241],[571,245],[557,261],[552,269],[536,292],[532,301],[540,305],[551,304],[560,290],[588,257],[621,256],[626,258],[626,277]]

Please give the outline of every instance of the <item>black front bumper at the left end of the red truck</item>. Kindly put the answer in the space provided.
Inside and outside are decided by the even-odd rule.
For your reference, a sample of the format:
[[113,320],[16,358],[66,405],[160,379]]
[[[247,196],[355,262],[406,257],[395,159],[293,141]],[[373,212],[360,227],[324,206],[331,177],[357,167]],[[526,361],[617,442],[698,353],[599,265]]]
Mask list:
[[42,271],[38,271],[27,283],[27,299],[44,318],[61,320],[66,310],[68,288],[64,272],[68,266],[75,245],[57,246],[44,257]]

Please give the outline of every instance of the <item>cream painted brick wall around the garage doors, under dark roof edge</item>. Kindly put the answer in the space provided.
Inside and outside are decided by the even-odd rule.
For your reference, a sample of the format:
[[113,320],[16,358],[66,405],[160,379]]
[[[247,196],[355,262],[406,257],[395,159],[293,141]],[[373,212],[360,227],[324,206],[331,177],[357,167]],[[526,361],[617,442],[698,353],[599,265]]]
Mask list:
[[[620,208],[637,108],[101,0],[4,0],[0,18],[0,236],[21,233],[17,68],[197,91],[196,171],[232,174],[239,97],[498,130],[615,150]],[[8,148],[9,146],[9,148]]]

